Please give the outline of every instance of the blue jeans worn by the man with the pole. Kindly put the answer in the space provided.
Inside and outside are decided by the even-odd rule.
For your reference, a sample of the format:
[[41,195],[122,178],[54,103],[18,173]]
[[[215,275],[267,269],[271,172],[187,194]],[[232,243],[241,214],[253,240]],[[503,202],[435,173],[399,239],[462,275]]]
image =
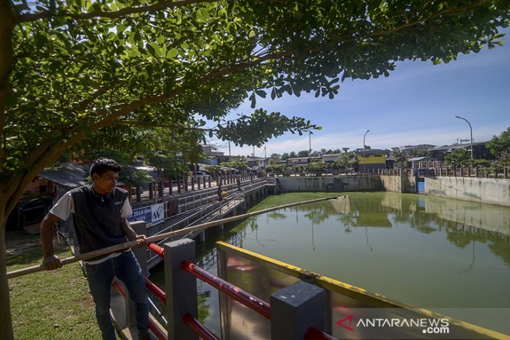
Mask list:
[[136,326],[138,334],[145,334],[149,329],[149,307],[147,289],[142,269],[132,251],[110,258],[98,265],[85,264],[90,293],[96,304],[96,318],[103,340],[115,340],[115,327],[110,317],[110,289],[113,276],[124,282],[129,297],[136,306]]

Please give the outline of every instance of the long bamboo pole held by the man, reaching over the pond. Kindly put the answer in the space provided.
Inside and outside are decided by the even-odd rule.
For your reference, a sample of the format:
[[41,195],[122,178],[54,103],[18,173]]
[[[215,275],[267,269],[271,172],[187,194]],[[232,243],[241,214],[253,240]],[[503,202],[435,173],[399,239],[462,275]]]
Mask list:
[[[147,243],[154,243],[154,242],[161,241],[162,239],[168,239],[169,237],[187,235],[189,232],[205,230],[207,228],[219,226],[224,223],[238,221],[240,219],[247,219],[248,217],[256,216],[256,215],[260,215],[260,214],[265,214],[266,212],[274,212],[275,210],[279,210],[279,209],[284,209],[284,208],[288,208],[288,207],[296,207],[297,205],[305,205],[305,204],[314,203],[314,202],[321,202],[323,200],[335,200],[337,198],[338,198],[338,196],[330,196],[330,197],[326,197],[326,198],[317,198],[316,200],[305,200],[305,201],[296,202],[296,203],[289,203],[287,205],[279,205],[277,207],[258,210],[256,212],[248,212],[247,214],[242,214],[242,215],[238,215],[238,216],[227,217],[226,219],[219,219],[217,221],[202,223],[202,224],[199,224],[198,226],[194,226],[194,227],[182,228],[180,230],[166,232],[166,233],[160,234],[160,235],[154,235],[151,237],[147,237],[146,241],[147,241]],[[96,251],[90,251],[89,253],[80,254],[78,256],[71,256],[69,258],[64,258],[63,260],[61,260],[61,263],[62,263],[62,265],[68,265],[70,263],[75,263],[78,261],[85,261],[85,260],[88,260],[89,258],[95,258],[96,256],[102,256],[102,255],[106,255],[108,253],[114,253],[115,251],[122,251],[124,249],[128,249],[133,246],[137,246],[137,242],[138,241],[125,242],[122,244],[117,244],[115,246],[108,246],[107,248],[98,249]],[[35,273],[35,272],[41,272],[42,270],[44,270],[44,267],[42,264],[13,270],[12,272],[7,273],[7,279],[13,279],[15,277],[19,277],[19,276],[23,276],[23,275],[27,275],[27,274],[31,274],[31,273]]]

